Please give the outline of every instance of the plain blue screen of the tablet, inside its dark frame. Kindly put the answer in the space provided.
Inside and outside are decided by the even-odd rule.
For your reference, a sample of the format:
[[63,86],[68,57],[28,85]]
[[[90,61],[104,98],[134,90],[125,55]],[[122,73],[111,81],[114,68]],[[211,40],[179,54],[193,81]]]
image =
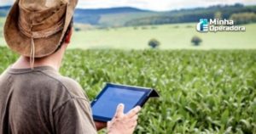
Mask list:
[[108,87],[102,96],[93,104],[92,112],[96,116],[112,119],[119,103],[125,104],[125,113],[136,106],[145,95],[143,90],[131,90],[118,87]]

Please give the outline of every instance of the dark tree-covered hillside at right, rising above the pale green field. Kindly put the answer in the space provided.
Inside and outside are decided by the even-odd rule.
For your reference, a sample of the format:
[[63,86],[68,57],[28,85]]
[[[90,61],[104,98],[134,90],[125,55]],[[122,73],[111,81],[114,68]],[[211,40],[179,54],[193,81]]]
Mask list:
[[217,5],[209,8],[181,9],[161,13],[151,17],[130,20],[129,25],[162,25],[173,23],[198,22],[200,19],[227,19],[234,20],[236,24],[256,22],[256,6],[244,6],[240,3],[235,5]]

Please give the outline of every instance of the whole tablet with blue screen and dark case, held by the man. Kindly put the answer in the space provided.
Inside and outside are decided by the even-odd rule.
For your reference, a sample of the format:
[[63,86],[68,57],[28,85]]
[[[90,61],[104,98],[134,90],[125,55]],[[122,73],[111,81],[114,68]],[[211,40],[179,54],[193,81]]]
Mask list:
[[125,104],[124,112],[127,113],[137,105],[143,107],[151,97],[159,97],[153,88],[107,83],[91,103],[93,119],[107,122],[112,120],[119,103]]

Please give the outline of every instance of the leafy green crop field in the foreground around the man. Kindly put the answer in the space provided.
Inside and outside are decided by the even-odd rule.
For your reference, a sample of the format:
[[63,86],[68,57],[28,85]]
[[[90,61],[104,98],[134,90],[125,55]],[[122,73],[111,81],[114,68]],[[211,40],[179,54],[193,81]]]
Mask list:
[[[107,32],[107,31],[106,31]],[[90,99],[105,82],[154,87],[136,133],[256,133],[256,50],[68,50],[61,74]],[[17,56],[0,48],[0,73]]]

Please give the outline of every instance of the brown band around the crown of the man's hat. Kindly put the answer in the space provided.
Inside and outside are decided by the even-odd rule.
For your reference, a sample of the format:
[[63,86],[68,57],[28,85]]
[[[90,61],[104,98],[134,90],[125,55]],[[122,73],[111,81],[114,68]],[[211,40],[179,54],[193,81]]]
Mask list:
[[31,25],[31,29],[28,30],[24,28],[22,24],[20,24],[20,22],[21,21],[19,20],[18,22],[19,29],[25,36],[31,37],[31,38],[44,38],[44,37],[52,36],[58,31],[63,30],[65,21],[64,19],[61,19],[61,21],[59,21],[58,23],[56,23],[55,25],[53,25],[52,27],[44,31],[32,31],[32,25]]

